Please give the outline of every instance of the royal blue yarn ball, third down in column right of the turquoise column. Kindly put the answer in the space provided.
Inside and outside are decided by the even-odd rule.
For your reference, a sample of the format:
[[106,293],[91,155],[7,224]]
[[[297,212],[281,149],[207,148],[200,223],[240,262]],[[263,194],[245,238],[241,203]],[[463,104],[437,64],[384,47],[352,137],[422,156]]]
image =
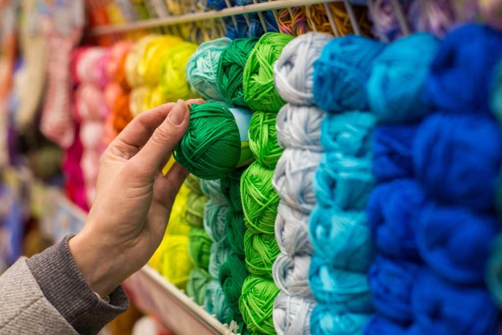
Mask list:
[[416,229],[426,197],[412,179],[376,186],[366,206],[373,243],[385,255],[419,260]]

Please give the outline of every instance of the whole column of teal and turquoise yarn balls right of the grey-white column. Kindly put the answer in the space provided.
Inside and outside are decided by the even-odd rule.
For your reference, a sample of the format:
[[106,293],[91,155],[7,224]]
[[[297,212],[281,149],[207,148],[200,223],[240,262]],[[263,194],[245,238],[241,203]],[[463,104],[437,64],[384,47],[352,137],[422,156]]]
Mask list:
[[317,205],[309,219],[314,252],[308,282],[318,302],[310,319],[312,334],[361,333],[373,310],[366,280],[372,246],[364,206],[374,184],[375,118],[368,111],[364,84],[383,49],[364,37],[336,38],[314,63],[313,100],[328,114],[321,125],[324,152],[314,177]]

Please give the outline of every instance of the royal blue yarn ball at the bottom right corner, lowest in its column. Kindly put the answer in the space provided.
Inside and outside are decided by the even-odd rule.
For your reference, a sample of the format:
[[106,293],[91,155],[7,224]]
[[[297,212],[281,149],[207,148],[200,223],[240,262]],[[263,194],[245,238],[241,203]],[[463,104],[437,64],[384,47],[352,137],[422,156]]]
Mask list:
[[484,287],[455,285],[430,270],[417,278],[412,308],[422,334],[484,335],[497,330],[498,310]]

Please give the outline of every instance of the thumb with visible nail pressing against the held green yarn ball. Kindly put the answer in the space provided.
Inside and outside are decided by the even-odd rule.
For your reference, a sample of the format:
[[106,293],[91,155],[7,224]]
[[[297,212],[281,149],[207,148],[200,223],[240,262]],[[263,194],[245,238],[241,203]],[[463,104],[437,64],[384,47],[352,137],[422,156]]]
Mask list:
[[166,119],[152,134],[145,146],[130,159],[130,163],[139,167],[142,173],[155,177],[162,168],[166,157],[174,146],[181,141],[190,121],[190,112],[185,101],[178,100]]

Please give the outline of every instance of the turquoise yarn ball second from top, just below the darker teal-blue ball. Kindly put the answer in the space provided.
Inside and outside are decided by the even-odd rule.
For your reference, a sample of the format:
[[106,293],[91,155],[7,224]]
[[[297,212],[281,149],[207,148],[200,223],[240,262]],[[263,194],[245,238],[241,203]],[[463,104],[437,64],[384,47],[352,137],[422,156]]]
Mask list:
[[375,122],[374,116],[360,111],[327,114],[321,124],[321,145],[325,151],[367,156],[371,153]]

